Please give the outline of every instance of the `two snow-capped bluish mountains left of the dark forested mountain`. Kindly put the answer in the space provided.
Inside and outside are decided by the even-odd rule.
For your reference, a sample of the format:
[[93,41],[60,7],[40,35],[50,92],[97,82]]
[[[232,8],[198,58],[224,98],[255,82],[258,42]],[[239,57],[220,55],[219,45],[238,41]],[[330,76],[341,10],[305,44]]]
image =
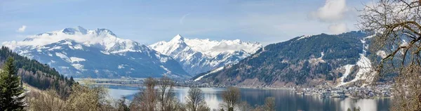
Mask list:
[[3,45],[55,67],[60,74],[93,78],[189,78],[238,63],[262,47],[257,42],[185,39],[180,34],[171,41],[145,46],[121,39],[111,30],[86,30],[80,26],[36,34],[23,41],[6,41]]

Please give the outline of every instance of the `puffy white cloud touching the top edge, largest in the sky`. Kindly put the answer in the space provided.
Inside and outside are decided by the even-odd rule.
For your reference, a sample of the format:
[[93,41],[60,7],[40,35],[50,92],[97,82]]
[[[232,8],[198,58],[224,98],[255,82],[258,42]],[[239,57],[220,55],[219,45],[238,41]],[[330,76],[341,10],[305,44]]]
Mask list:
[[323,22],[333,22],[342,20],[347,12],[345,0],[326,0],[325,5],[316,12],[312,12],[311,15]]

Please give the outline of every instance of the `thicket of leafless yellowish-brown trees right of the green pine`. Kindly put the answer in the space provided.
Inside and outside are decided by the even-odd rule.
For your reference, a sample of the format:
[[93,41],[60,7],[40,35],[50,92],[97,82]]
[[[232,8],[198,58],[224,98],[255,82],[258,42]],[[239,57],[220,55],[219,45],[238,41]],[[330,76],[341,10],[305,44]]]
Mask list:
[[108,98],[108,91],[103,86],[92,85],[85,81],[84,85],[73,84],[72,93],[65,100],[57,91],[31,90],[27,100],[27,110],[116,110]]

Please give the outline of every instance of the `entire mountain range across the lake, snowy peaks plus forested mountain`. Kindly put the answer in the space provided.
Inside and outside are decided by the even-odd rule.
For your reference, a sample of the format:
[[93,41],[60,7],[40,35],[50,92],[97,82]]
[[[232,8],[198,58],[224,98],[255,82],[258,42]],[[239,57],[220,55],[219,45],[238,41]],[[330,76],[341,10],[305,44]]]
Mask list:
[[[372,32],[300,36],[265,47],[239,39],[187,39],[145,46],[107,29],[65,28],[3,45],[66,76],[173,77],[236,86],[342,86],[372,81]],[[380,55],[379,55],[380,54]]]

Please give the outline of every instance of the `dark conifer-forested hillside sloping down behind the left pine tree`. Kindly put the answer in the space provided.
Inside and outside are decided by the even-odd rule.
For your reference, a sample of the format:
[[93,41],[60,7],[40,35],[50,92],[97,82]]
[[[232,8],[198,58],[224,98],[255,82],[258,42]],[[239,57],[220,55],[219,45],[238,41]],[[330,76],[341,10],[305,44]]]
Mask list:
[[36,87],[37,89],[55,89],[60,96],[67,96],[70,86],[74,84],[72,77],[68,79],[59,74],[54,68],[36,60],[13,53],[8,47],[2,46],[0,49],[0,66],[4,65],[6,58],[12,57],[18,67],[18,75],[24,83]]

